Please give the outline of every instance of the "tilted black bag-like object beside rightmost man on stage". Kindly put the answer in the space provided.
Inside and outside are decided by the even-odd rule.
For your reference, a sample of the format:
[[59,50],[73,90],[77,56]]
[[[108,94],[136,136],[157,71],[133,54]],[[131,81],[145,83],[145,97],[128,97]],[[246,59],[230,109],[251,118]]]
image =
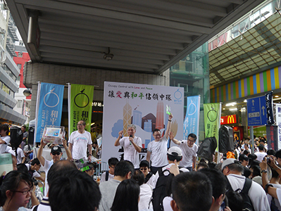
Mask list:
[[199,158],[205,158],[209,162],[213,161],[213,154],[215,153],[215,150],[217,148],[217,139],[215,137],[210,137],[204,139],[202,143],[200,144],[197,155]]

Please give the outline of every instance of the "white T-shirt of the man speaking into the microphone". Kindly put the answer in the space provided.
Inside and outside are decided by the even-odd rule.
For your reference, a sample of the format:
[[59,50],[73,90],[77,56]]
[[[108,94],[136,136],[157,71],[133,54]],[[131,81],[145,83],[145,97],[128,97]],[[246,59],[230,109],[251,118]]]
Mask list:
[[[134,142],[137,146],[142,148],[142,139],[135,136]],[[124,160],[129,160],[134,165],[135,169],[139,168],[139,153],[136,151],[134,145],[130,144],[130,139],[128,136],[123,137],[119,141],[120,146],[124,148]]]

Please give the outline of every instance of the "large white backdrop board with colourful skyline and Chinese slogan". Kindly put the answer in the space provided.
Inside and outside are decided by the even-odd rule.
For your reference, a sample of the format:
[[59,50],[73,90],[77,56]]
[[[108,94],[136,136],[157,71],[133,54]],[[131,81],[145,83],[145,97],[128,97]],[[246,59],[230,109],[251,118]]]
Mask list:
[[[118,132],[127,136],[127,125],[135,124],[135,136],[142,139],[141,160],[146,156],[146,147],[154,141],[152,132],[160,129],[162,135],[168,124],[166,108],[173,114],[171,130],[176,139],[183,135],[184,89],[147,84],[104,82],[104,117],[102,135],[102,161],[123,156],[122,147],[115,147]],[[172,144],[173,145],[173,144]],[[168,147],[170,141],[168,141]]]

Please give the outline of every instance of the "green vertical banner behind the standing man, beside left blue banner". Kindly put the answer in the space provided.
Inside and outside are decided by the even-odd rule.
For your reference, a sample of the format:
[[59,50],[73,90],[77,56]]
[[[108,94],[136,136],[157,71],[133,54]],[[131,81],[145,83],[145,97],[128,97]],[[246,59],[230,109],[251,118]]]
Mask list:
[[86,122],[85,130],[90,132],[94,86],[68,84],[68,134],[77,130],[80,120]]

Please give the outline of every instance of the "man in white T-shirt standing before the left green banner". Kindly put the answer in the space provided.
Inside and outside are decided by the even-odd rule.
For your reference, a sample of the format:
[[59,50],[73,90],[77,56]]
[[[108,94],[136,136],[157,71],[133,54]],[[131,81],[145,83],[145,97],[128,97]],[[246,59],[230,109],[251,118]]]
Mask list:
[[75,160],[87,159],[87,148],[89,151],[89,162],[92,160],[92,138],[91,134],[85,131],[86,122],[80,120],[77,124],[77,131],[70,134],[68,143],[72,157]]

